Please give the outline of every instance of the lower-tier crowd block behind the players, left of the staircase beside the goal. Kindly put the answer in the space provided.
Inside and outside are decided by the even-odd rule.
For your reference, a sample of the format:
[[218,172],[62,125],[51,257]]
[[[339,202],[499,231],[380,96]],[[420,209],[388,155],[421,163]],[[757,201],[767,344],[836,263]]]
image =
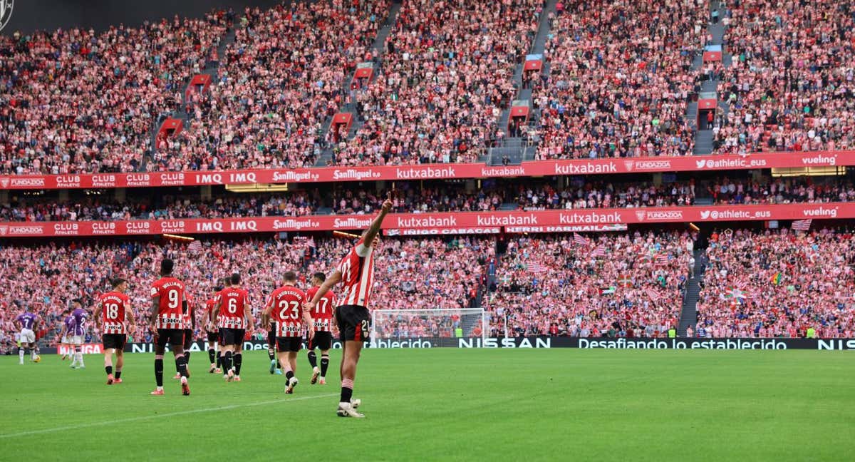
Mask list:
[[[285,270],[297,270],[300,286],[308,288],[310,275],[332,270],[349,244],[345,240],[296,239],[217,240],[198,247],[145,242],[6,246],[0,248],[0,269],[6,275],[9,296],[0,300],[0,328],[4,335],[13,335],[12,321],[27,306],[49,329],[56,329],[72,299],[82,299],[86,308],[91,307],[115,277],[129,282],[134,314],[144,326],[150,310],[148,289],[158,277],[162,258],[175,259],[175,275],[186,282],[198,319],[221,278],[239,271],[258,320],[268,293],[279,287]],[[484,238],[383,239],[375,257],[374,304],[386,309],[473,306],[482,283],[482,266],[492,252],[492,240]],[[199,323],[198,337],[202,329]],[[264,335],[264,331],[259,327],[251,335]],[[90,336],[97,339],[99,333],[93,328]],[[139,329],[135,338],[147,339],[145,329]],[[55,339],[50,336],[47,340]]]

